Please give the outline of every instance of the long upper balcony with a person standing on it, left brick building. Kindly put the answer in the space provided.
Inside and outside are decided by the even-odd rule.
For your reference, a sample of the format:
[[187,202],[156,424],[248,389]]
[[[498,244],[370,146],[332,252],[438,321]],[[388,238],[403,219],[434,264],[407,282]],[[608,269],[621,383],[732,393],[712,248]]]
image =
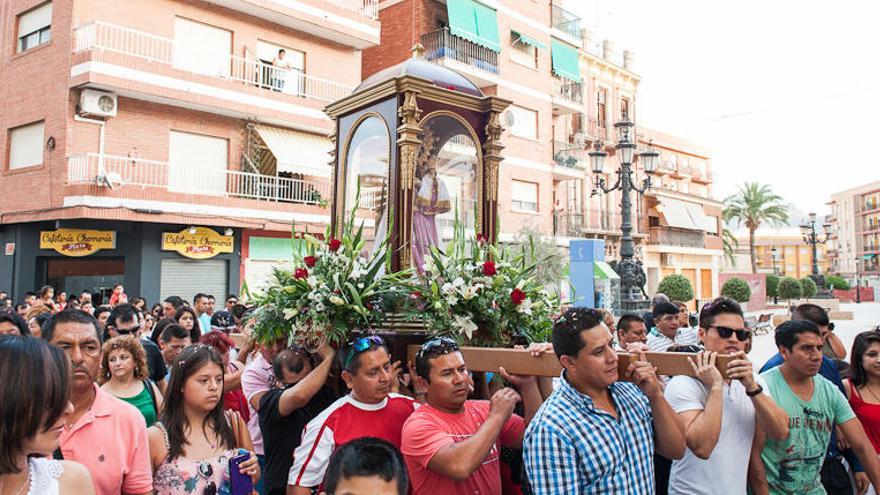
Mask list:
[[74,29],[72,86],[212,113],[289,125],[329,126],[323,107],[351,93],[345,84],[281,69],[255,57],[217,56],[203,47],[104,22]]

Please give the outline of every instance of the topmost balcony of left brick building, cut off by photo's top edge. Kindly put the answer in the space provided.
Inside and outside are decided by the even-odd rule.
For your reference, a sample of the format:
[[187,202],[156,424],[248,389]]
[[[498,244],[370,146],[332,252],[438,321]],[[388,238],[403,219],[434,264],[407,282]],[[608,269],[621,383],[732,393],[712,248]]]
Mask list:
[[206,0],[358,50],[379,45],[379,0]]

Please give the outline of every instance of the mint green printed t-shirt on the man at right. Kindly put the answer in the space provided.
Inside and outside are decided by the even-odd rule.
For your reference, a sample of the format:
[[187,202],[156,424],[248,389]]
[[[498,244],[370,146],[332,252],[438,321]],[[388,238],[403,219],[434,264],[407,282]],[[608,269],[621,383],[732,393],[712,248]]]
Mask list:
[[788,438],[768,438],[761,452],[770,493],[824,494],[819,472],[832,428],[856,416],[840,390],[819,375],[813,377],[813,397],[801,400],[786,383],[780,368],[761,373],[773,400],[788,413]]

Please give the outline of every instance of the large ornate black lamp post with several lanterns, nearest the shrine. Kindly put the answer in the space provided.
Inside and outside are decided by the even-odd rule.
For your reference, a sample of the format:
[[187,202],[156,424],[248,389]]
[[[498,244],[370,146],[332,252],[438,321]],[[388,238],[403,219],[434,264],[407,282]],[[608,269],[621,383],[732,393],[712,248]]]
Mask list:
[[635,191],[637,194],[645,194],[651,188],[651,173],[657,167],[657,161],[660,153],[649,148],[638,153],[639,159],[648,173],[648,177],[644,179],[641,187],[633,183],[633,158],[636,155],[636,144],[633,133],[634,124],[626,117],[614,124],[617,130],[618,140],[615,148],[617,149],[620,169],[617,171],[617,182],[608,187],[605,179],[598,176],[602,173],[605,164],[605,157],[608,153],[601,149],[601,144],[597,141],[595,149],[589,153],[590,166],[596,175],[593,194],[604,192],[606,194],[619,190],[620,191],[620,262],[617,264],[617,272],[620,275],[620,309],[623,314],[640,314],[650,307],[650,301],[642,297],[640,286],[637,282],[636,274],[639,267],[633,259],[635,256],[635,245],[632,238],[632,202],[630,192]]

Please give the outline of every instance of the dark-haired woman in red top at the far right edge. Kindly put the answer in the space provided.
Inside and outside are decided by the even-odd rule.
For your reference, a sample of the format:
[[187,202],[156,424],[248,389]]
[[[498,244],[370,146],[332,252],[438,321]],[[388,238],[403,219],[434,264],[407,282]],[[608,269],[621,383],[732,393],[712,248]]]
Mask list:
[[852,378],[844,380],[853,412],[880,454],[880,332],[856,335],[852,349]]

